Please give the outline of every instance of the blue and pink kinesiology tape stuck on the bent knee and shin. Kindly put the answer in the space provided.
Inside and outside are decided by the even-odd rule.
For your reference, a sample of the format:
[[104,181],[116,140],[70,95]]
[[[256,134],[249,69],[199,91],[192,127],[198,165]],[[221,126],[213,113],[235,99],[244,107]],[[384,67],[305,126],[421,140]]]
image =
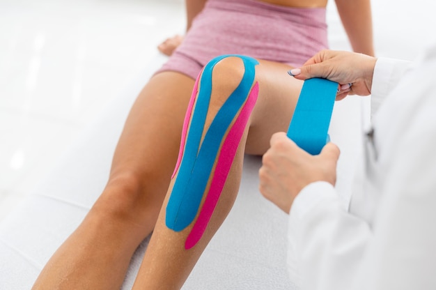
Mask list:
[[[233,56],[242,59],[244,75],[206,130],[213,68],[222,59]],[[165,217],[166,226],[174,231],[182,231],[193,222],[185,243],[186,249],[194,247],[203,236],[231,170],[258,96],[258,84],[254,82],[254,67],[257,64],[256,59],[247,56],[217,56],[203,68],[203,73],[194,84],[182,127],[178,160],[172,174],[176,180],[166,205]]]

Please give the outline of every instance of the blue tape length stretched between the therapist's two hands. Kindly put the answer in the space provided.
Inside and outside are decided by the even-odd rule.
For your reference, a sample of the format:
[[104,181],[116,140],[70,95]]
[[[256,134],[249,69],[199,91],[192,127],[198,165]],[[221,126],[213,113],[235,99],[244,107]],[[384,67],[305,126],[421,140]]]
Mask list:
[[336,82],[313,78],[304,81],[299,94],[287,135],[312,155],[319,154],[329,142],[328,130],[337,89]]

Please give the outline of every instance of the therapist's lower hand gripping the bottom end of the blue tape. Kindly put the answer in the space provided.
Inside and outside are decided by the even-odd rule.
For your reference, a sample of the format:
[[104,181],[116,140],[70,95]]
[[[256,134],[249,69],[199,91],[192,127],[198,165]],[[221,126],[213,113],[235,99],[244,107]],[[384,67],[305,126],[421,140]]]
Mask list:
[[284,132],[272,135],[270,145],[259,170],[259,190],[285,213],[289,213],[295,197],[306,185],[315,181],[336,183],[338,146],[327,143],[319,155],[310,155]]

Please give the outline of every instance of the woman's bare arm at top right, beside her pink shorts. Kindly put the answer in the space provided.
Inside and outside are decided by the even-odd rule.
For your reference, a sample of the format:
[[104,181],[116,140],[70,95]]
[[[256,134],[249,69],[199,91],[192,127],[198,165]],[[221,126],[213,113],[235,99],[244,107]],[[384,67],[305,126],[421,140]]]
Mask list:
[[370,0],[335,0],[339,17],[355,52],[374,56]]

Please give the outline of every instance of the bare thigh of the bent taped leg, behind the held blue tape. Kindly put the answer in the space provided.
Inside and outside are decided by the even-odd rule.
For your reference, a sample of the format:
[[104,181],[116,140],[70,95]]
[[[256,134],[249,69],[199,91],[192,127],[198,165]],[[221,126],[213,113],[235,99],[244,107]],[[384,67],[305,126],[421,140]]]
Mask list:
[[288,130],[303,82],[290,77],[290,66],[259,61],[256,79],[259,95],[251,114],[245,152],[261,155],[270,148],[272,134]]

